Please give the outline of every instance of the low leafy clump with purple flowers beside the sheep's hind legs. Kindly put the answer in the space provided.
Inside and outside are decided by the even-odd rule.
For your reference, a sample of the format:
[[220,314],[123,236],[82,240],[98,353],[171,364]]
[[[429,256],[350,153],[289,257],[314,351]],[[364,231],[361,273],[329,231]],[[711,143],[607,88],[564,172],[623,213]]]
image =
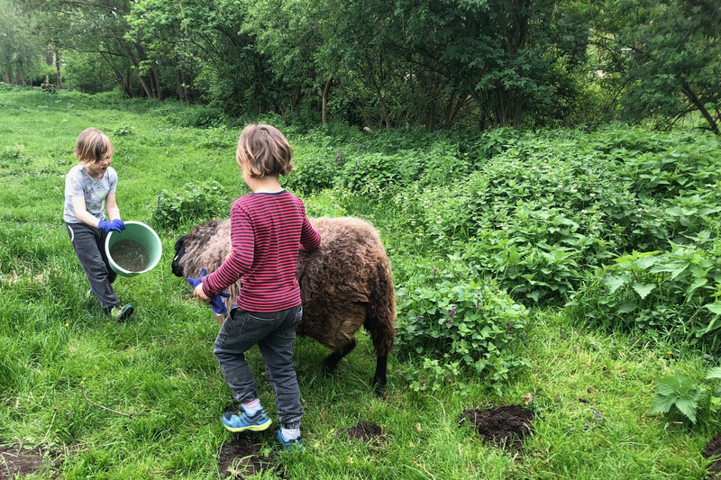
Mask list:
[[[452,258],[458,259],[458,258]],[[498,387],[529,363],[513,352],[528,311],[493,280],[469,280],[468,272],[416,271],[397,288],[397,352],[423,358],[406,380],[415,391],[451,386],[467,393],[463,372],[488,377]]]

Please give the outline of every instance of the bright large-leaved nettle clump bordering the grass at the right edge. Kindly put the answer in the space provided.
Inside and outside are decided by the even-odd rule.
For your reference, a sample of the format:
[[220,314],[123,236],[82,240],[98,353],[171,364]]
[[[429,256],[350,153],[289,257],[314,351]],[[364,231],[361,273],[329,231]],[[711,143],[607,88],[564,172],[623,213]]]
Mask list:
[[[703,246],[711,233],[696,240]],[[567,306],[585,322],[721,347],[721,241],[633,252],[598,270]]]

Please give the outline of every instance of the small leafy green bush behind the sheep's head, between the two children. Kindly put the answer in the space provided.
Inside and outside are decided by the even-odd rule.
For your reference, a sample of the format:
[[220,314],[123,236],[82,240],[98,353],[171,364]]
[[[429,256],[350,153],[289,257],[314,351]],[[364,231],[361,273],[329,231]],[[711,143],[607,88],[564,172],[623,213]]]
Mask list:
[[163,190],[153,211],[159,227],[177,228],[185,222],[199,222],[227,216],[231,199],[215,181],[189,183],[179,192]]

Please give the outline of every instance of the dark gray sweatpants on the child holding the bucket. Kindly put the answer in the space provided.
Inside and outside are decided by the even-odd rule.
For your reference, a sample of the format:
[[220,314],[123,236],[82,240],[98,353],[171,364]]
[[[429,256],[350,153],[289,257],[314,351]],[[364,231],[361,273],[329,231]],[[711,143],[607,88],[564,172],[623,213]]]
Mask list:
[[85,223],[65,223],[73,244],[73,250],[83,266],[87,280],[90,282],[90,289],[100,301],[100,306],[106,310],[118,303],[113,285],[117,274],[110,267],[107,255],[105,254],[106,231],[100,231]]

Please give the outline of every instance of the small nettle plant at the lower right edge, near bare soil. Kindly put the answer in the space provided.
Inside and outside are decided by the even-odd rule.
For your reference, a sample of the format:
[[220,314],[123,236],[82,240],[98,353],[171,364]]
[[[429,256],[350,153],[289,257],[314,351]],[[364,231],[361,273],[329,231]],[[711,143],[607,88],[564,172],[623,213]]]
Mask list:
[[698,421],[714,430],[721,412],[721,382],[715,382],[719,379],[721,367],[711,368],[702,381],[680,373],[657,378],[649,414],[680,412],[692,424]]

